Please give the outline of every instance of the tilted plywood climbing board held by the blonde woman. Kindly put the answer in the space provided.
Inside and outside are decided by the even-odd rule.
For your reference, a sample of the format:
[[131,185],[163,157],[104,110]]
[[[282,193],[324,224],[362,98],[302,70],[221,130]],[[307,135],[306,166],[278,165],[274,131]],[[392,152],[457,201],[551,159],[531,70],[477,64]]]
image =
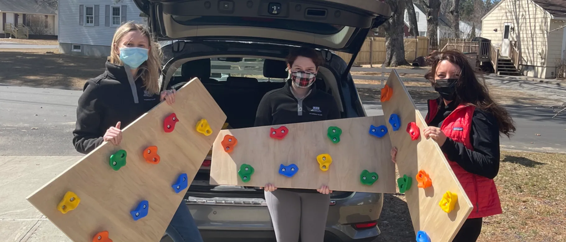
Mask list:
[[157,242],[225,120],[194,78],[27,200],[76,242]]

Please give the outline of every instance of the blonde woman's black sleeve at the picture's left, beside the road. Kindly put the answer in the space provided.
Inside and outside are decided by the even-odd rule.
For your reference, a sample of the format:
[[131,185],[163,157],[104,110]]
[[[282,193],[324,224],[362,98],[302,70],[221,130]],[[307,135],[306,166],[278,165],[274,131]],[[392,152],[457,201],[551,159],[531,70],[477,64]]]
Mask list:
[[84,89],[76,108],[76,124],[72,143],[76,151],[88,154],[104,139],[100,134],[101,108],[98,103],[98,91],[95,83],[90,83]]

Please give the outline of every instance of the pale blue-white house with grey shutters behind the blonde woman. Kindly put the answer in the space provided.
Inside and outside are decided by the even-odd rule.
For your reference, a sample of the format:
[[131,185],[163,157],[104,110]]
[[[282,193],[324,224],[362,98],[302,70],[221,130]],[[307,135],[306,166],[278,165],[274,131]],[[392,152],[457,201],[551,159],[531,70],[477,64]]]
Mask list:
[[127,21],[147,24],[132,0],[59,0],[59,51],[105,57],[115,30]]

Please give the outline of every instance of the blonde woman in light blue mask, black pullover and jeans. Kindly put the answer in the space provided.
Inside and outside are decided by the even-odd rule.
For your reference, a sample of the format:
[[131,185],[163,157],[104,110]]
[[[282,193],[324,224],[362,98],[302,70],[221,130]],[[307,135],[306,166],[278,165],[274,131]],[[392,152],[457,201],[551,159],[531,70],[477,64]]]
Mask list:
[[[88,80],[76,110],[73,144],[87,154],[102,142],[118,145],[125,127],[155,105],[175,102],[175,91],[160,92],[161,52],[143,25],[123,24],[114,33],[106,71]],[[175,242],[203,241],[185,203],[165,231]]]

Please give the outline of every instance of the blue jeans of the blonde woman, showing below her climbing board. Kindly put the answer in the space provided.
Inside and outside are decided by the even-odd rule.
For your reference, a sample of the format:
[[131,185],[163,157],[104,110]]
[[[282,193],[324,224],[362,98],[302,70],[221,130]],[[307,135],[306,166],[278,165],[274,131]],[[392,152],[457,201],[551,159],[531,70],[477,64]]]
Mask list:
[[196,227],[195,219],[192,218],[184,199],[173,215],[165,234],[175,242],[203,242],[203,237],[200,236],[199,228]]

